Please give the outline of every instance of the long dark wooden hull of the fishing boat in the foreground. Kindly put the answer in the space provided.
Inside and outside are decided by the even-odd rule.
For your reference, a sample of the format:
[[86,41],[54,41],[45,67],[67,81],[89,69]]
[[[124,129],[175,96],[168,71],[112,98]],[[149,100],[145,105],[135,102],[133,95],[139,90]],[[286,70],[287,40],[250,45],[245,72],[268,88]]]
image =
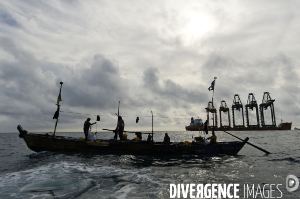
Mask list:
[[19,137],[23,138],[28,148],[35,152],[78,152],[88,151],[106,154],[136,154],[136,155],[235,155],[248,141],[246,138],[242,142],[219,142],[217,144],[208,144],[192,142],[191,145],[183,143],[170,143],[164,145],[162,142],[150,141],[80,141],[68,140],[64,136],[51,137],[48,134],[27,133],[19,125]]

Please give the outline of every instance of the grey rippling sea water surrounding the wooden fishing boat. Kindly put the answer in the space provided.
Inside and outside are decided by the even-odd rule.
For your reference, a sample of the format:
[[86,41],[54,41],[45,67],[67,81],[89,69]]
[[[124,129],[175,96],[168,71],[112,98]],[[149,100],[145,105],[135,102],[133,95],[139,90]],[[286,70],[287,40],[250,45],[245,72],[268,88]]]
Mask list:
[[[155,141],[163,141],[165,131],[154,133]],[[0,133],[0,199],[168,199],[170,184],[213,183],[239,184],[240,198],[244,198],[243,185],[254,185],[256,194],[258,185],[263,191],[266,184],[281,184],[282,199],[300,198],[300,187],[294,192],[285,188],[287,175],[300,180],[300,130],[230,133],[249,137],[248,142],[272,154],[247,144],[234,156],[36,153],[19,133]],[[57,135],[78,138],[84,133]],[[168,131],[168,135],[171,141],[191,142],[198,132]],[[216,135],[217,141],[238,141],[224,132]],[[98,139],[113,136],[97,133]],[[134,136],[128,133],[129,139]],[[278,190],[272,197],[280,197]]]

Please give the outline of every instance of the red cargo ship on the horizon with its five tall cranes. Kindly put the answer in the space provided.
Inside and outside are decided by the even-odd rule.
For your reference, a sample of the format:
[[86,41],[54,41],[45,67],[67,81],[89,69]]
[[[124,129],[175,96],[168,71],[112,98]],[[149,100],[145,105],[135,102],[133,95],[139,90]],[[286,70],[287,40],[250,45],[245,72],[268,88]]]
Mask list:
[[[214,129],[215,131],[287,131],[291,130],[291,122],[283,122],[281,119],[281,123],[276,126],[276,120],[275,120],[275,111],[274,111],[274,105],[273,102],[275,100],[272,99],[268,92],[263,93],[262,103],[257,104],[254,94],[249,93],[248,95],[248,101],[245,106],[245,116],[246,116],[246,125],[244,123],[244,113],[243,113],[243,105],[240,101],[239,95],[234,95],[233,103],[232,103],[232,127],[231,127],[231,118],[230,118],[230,109],[227,107],[226,102],[224,100],[221,101],[221,105],[219,108],[219,117],[220,117],[220,126],[218,127],[218,117],[217,117],[217,110],[213,107],[212,102],[208,102],[206,109],[206,115],[207,115],[207,130],[212,131]],[[258,108],[259,107],[259,108]],[[255,110],[255,111],[254,111]],[[268,119],[271,118],[271,124],[266,124],[264,112],[269,110],[270,116],[268,116]],[[251,124],[249,121],[249,112],[253,111],[256,114],[253,114],[256,116],[255,124]],[[242,116],[240,119],[240,124],[237,124],[237,118],[234,113],[239,112],[239,115]],[[258,112],[260,113],[260,117],[258,115]],[[228,118],[225,118],[228,120],[228,124],[224,125],[222,123],[222,114],[227,115]],[[241,113],[241,114],[240,114]],[[211,116],[212,115],[212,116]],[[213,125],[209,124],[209,118],[213,119]],[[260,125],[259,125],[259,118],[260,118]],[[214,128],[213,128],[214,127]],[[194,120],[194,118],[191,118],[191,123],[189,126],[185,127],[186,131],[203,131],[204,124],[202,122],[202,119],[199,117]]]

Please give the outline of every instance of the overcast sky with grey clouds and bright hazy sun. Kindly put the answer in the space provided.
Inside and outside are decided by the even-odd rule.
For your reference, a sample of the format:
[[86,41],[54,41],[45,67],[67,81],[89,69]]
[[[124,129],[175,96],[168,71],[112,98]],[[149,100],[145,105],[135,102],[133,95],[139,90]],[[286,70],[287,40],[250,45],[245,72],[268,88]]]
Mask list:
[[[115,128],[119,101],[125,130],[151,131],[151,111],[184,118],[154,117],[154,131],[185,130],[206,118],[215,76],[217,109],[268,91],[276,124],[299,127],[299,10],[295,0],[2,0],[0,132],[54,131],[61,81],[61,111],[100,115],[98,131]],[[57,131],[82,131],[87,117],[96,121],[61,112]]]

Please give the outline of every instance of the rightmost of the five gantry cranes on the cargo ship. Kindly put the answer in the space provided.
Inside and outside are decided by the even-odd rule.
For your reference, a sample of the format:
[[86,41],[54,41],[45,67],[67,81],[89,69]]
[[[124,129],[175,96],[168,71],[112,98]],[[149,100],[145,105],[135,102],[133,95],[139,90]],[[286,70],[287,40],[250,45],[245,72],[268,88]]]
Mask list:
[[[276,126],[276,120],[275,120],[275,111],[274,111],[274,102],[275,100],[271,98],[269,92],[263,93],[263,98],[261,104],[259,104],[259,112],[260,112],[260,123],[262,127],[273,127]],[[266,125],[265,124],[265,118],[263,114],[263,110],[267,110],[267,108],[270,107],[271,111],[271,118],[272,118],[272,125]]]

